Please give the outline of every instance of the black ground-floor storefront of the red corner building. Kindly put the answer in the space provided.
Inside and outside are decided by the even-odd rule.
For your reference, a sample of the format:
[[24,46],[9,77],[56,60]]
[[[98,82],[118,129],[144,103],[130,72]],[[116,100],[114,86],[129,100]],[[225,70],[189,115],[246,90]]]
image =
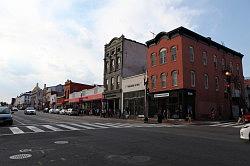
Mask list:
[[195,91],[191,89],[178,89],[149,95],[149,116],[159,112],[169,112],[172,119],[185,119],[187,110],[192,111],[195,118]]

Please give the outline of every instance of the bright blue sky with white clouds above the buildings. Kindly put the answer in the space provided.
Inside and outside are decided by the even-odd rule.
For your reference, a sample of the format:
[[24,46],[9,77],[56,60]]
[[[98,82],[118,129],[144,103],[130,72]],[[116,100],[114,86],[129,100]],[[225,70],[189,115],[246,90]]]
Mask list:
[[141,43],[184,26],[244,55],[250,76],[249,0],[0,0],[0,101],[67,79],[102,84],[104,45]]

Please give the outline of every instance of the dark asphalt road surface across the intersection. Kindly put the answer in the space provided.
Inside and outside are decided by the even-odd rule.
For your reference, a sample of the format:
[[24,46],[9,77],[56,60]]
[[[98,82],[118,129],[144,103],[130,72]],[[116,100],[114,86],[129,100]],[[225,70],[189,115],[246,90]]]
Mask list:
[[[1,166],[250,165],[250,143],[239,139],[239,128],[147,126],[116,119],[45,113],[32,116],[23,111],[13,116],[13,126],[0,126]],[[51,131],[48,126],[61,130]]]

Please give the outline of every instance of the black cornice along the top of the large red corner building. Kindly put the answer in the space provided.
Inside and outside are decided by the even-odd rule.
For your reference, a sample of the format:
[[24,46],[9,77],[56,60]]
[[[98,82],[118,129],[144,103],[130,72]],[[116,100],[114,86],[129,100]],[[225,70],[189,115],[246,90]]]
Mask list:
[[223,45],[221,45],[221,44],[219,44],[219,43],[211,40],[211,38],[209,38],[209,37],[204,37],[204,36],[202,36],[202,35],[200,35],[198,33],[195,33],[195,32],[193,32],[193,31],[191,31],[191,30],[189,30],[189,29],[187,29],[185,27],[182,27],[182,26],[179,27],[179,28],[176,28],[176,29],[174,29],[172,31],[169,31],[169,32],[160,32],[160,33],[158,33],[155,36],[155,38],[153,38],[151,40],[148,40],[146,42],[147,47],[150,47],[150,45],[152,45],[152,44],[156,44],[161,39],[161,37],[163,37],[165,35],[168,36],[169,38],[171,38],[172,36],[174,36],[176,34],[179,34],[179,35],[188,35],[188,36],[194,37],[194,38],[196,38],[198,40],[201,40],[201,41],[203,41],[203,42],[205,42],[205,43],[207,43],[209,45],[212,45],[212,46],[215,46],[217,48],[220,48],[220,49],[222,49],[222,50],[224,50],[226,52],[229,52],[229,53],[231,53],[233,55],[236,55],[236,56],[238,56],[240,58],[243,58],[243,56],[244,56],[240,52],[236,52],[236,51],[234,51],[234,50],[232,50],[232,49],[230,49],[230,48],[228,48],[226,46],[223,46]]

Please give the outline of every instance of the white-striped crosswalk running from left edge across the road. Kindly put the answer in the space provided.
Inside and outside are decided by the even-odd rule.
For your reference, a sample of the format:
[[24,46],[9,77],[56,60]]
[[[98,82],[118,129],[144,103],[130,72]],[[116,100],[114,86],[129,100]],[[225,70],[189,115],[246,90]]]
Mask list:
[[27,133],[44,133],[59,131],[94,130],[108,128],[140,128],[140,127],[178,127],[171,124],[139,124],[139,123],[60,123],[60,124],[34,124],[14,127],[6,127],[0,131],[3,135],[18,135]]

